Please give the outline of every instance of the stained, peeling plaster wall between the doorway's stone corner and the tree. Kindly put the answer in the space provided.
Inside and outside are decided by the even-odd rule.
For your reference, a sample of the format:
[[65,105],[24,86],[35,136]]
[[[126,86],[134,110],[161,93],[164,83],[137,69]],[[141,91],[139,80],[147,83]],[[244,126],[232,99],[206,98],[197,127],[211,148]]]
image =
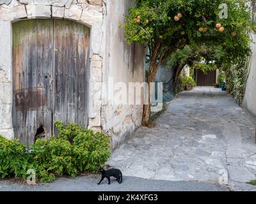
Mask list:
[[[117,3],[118,2],[118,3]],[[133,5],[132,0],[107,1],[107,46],[106,66],[103,69],[104,82],[113,77],[114,84],[144,81],[145,48],[141,45],[127,45],[124,30],[118,25],[124,23],[124,14]],[[140,97],[140,96],[138,96]],[[102,128],[111,135],[115,149],[141,125],[143,105],[102,105]]]

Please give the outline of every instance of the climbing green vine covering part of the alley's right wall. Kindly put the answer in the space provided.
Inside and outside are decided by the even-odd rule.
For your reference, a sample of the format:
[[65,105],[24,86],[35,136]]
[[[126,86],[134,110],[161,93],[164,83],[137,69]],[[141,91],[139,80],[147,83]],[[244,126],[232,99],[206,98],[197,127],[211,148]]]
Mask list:
[[237,103],[243,103],[246,81],[248,78],[248,57],[245,57],[238,64],[225,69],[227,91],[234,96]]

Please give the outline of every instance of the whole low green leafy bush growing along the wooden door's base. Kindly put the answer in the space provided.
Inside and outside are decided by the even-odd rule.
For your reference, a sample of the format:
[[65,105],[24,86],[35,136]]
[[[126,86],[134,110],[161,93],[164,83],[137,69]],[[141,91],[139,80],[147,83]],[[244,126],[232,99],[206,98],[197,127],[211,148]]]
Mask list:
[[58,136],[36,140],[26,149],[19,140],[0,136],[0,176],[26,179],[27,171],[36,171],[36,179],[50,182],[56,176],[96,173],[110,157],[110,138],[77,124],[55,122]]

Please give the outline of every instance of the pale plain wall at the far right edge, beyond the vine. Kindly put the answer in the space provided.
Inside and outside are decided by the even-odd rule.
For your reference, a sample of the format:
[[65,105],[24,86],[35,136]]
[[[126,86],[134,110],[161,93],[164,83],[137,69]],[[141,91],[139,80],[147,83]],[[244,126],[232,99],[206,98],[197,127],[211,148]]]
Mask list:
[[[256,35],[252,34],[253,41],[256,41]],[[246,82],[246,91],[243,106],[256,116],[256,45],[252,43],[252,56],[248,66],[248,80]]]

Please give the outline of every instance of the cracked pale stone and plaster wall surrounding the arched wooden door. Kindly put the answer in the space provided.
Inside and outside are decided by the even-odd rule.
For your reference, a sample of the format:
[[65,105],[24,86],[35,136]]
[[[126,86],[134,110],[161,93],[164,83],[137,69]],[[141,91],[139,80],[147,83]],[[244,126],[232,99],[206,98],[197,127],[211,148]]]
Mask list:
[[89,127],[112,136],[113,148],[141,124],[142,105],[102,103],[102,83],[143,82],[145,49],[129,46],[119,24],[132,0],[0,0],[0,135],[12,129],[12,22],[74,20],[91,29]]

